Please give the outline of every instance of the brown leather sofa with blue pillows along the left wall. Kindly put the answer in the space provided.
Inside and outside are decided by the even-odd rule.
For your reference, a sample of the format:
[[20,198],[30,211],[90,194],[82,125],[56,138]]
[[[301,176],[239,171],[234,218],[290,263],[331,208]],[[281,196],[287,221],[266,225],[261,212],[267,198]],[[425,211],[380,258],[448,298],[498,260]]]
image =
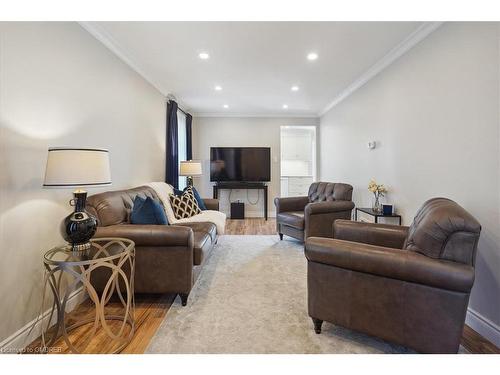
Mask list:
[[[98,221],[94,237],[122,237],[134,241],[135,292],[178,293],[182,304],[186,305],[193,283],[217,242],[216,227],[212,223],[130,224],[130,212],[137,195],[158,200],[155,191],[148,186],[90,196],[87,210]],[[217,199],[204,199],[204,202],[210,210],[219,209]],[[98,279],[96,277],[96,284]]]

